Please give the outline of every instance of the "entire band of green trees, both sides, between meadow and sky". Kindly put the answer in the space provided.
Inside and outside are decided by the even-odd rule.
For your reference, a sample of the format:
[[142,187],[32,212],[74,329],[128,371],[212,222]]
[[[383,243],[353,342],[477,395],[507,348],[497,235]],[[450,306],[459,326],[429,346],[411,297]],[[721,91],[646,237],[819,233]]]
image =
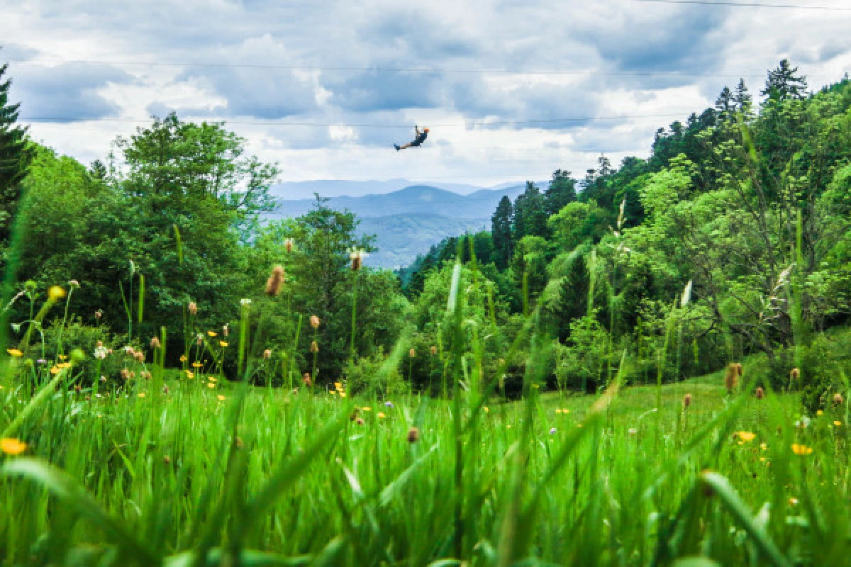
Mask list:
[[[496,376],[529,325],[549,383],[565,388],[591,391],[619,371],[674,380],[755,353],[779,385],[792,367],[808,383],[837,379],[818,364],[818,332],[851,309],[848,80],[809,93],[782,61],[759,104],[744,82],[724,88],[714,107],[660,129],[647,160],[603,156],[581,179],[557,170],[545,188],[527,184],[500,201],[490,231],[443,241],[397,278],[352,269],[374,241],[321,198],[300,218],[261,222],[277,167],[223,123],[154,119],[86,167],[27,138],[2,79],[2,316],[13,340],[60,284],[72,291],[64,343],[88,352],[98,341],[143,349],[164,329],[169,364],[186,366],[188,343],[225,337],[248,309],[254,350],[272,353],[258,383],[311,372],[352,390],[437,394],[459,340],[447,336],[450,289],[463,286],[463,328],[484,360],[466,369],[471,380]],[[269,297],[278,264],[283,292]],[[58,324],[38,331],[49,345]],[[499,371],[506,395],[523,383],[527,345]],[[226,349],[231,375],[234,359]]]

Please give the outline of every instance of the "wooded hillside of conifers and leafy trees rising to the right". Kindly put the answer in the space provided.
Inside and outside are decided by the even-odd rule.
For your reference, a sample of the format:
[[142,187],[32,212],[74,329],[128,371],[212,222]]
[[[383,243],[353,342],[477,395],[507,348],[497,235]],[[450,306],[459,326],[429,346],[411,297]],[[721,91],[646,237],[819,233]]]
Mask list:
[[500,326],[537,309],[551,379],[574,388],[605,383],[621,360],[632,380],[655,381],[753,353],[777,385],[807,360],[811,383],[828,379],[807,354],[851,309],[851,82],[810,94],[783,60],[760,94],[755,105],[744,81],[724,88],[660,128],[647,160],[601,156],[582,179],[528,183],[489,232],[448,238],[403,270],[404,292],[424,303],[472,252]]

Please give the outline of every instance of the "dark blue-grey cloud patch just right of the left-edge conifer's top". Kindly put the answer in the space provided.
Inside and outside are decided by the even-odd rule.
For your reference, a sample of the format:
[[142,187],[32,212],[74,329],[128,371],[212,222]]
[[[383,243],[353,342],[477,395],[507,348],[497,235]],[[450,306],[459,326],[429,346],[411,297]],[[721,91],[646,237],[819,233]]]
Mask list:
[[10,65],[10,70],[11,98],[21,101],[21,117],[51,118],[53,122],[117,116],[118,105],[99,91],[110,83],[134,81],[114,66],[91,63],[18,64]]

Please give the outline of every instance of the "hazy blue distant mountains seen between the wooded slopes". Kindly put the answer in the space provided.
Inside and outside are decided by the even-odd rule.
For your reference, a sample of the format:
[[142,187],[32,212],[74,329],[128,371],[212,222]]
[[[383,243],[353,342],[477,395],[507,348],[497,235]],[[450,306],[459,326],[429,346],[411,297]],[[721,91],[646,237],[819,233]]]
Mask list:
[[[429,247],[447,236],[488,229],[502,196],[511,201],[520,195],[525,184],[509,184],[496,189],[482,189],[472,185],[408,185],[384,195],[346,196],[344,190],[376,188],[376,183],[392,186],[397,180],[388,182],[303,182],[304,184],[328,184],[328,206],[337,210],[348,209],[361,219],[360,234],[377,236],[378,252],[371,254],[367,265],[381,268],[401,268],[414,261],[418,254],[428,252]],[[334,187],[333,183],[343,184]],[[364,185],[360,185],[363,183]],[[369,184],[369,185],[366,185]],[[538,184],[543,189],[543,184]],[[456,190],[447,190],[452,186]],[[305,189],[302,185],[301,189]],[[323,194],[319,191],[317,193]],[[461,195],[460,190],[466,194]],[[281,190],[274,191],[281,195]],[[271,218],[299,217],[307,213],[316,199],[287,200],[279,198]]]

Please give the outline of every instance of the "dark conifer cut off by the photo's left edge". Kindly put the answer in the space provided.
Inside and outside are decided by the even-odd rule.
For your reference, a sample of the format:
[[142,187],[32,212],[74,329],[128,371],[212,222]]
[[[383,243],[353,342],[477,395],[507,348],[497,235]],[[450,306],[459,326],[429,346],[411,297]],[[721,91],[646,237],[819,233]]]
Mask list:
[[0,243],[9,241],[14,210],[20,200],[20,182],[32,159],[26,128],[15,124],[20,103],[9,103],[12,81],[3,81],[8,67],[0,65]]

